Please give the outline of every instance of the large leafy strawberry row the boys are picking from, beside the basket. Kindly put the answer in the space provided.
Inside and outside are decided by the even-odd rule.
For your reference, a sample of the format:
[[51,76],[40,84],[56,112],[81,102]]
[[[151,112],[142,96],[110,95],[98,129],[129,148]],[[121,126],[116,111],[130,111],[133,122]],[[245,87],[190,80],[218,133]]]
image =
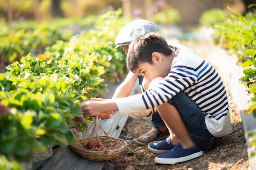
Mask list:
[[90,31],[28,54],[0,74],[0,104],[9,108],[0,110],[1,168],[19,169],[34,152],[76,143],[76,132],[87,130],[92,118],[79,102],[106,93],[107,82],[126,72],[125,54],[114,43],[128,22],[120,14],[108,11]]

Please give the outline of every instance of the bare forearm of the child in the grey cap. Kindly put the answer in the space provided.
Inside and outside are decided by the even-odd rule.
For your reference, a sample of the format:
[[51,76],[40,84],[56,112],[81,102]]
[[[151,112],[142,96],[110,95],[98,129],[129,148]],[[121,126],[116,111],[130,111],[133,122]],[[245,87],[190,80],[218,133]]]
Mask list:
[[137,74],[129,71],[124,82],[121,83],[121,85],[119,85],[117,87],[117,89],[115,90],[115,93],[112,96],[112,98],[121,98],[121,97],[129,96],[131,94],[132,88],[137,80],[137,76],[138,76]]

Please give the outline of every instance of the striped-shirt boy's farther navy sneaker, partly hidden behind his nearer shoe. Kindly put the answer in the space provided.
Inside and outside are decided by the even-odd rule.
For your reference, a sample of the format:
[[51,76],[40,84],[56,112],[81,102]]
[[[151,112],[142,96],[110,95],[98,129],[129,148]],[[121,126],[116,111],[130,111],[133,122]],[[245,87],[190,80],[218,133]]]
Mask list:
[[170,151],[175,145],[171,143],[171,138],[167,137],[165,140],[159,140],[148,144],[148,150],[153,153],[166,153]]

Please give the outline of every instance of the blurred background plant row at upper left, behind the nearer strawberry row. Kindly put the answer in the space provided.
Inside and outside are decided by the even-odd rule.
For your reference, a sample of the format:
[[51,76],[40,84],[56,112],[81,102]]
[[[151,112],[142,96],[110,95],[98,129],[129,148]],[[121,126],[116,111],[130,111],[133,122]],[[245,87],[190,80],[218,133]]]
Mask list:
[[52,19],[37,24],[35,21],[15,21],[13,30],[0,19],[0,72],[13,61],[29,53],[40,54],[56,41],[69,41],[72,35],[91,26],[97,16]]

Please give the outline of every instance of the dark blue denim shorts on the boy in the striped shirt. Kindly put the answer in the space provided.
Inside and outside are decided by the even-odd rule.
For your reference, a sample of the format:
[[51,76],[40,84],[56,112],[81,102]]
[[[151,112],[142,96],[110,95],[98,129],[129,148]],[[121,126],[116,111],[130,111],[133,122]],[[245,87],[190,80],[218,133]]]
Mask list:
[[203,150],[209,150],[220,142],[222,137],[211,135],[205,124],[204,113],[186,94],[180,92],[168,103],[180,113],[189,135]]

